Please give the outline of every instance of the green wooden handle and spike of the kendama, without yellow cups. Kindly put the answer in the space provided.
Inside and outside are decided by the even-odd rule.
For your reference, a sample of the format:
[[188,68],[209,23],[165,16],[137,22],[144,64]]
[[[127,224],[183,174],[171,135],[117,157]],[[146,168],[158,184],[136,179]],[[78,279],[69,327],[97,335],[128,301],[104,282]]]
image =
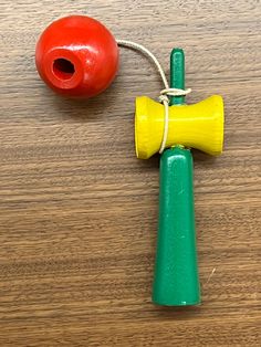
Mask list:
[[[180,49],[170,55],[170,86],[185,88],[185,59]],[[184,97],[171,98],[184,104]],[[198,278],[192,156],[181,146],[160,158],[159,227],[153,301],[180,306],[200,303]]]

